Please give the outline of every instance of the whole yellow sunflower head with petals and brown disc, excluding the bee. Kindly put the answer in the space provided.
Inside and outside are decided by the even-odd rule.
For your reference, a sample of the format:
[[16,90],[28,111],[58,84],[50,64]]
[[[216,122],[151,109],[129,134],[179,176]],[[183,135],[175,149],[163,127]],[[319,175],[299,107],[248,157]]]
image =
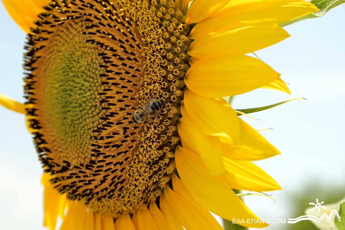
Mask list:
[[[279,154],[223,97],[289,92],[245,54],[317,11],[303,0],[3,0],[26,31],[25,113],[44,173],[44,225],[222,229],[210,212],[262,223],[232,189],[278,183],[251,161]],[[149,99],[160,114],[137,124]]]

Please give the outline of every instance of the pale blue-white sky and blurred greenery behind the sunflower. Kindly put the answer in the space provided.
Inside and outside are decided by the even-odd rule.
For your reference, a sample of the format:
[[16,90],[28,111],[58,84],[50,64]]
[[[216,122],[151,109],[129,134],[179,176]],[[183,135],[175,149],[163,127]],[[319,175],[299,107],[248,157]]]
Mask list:
[[[345,5],[322,18],[285,27],[292,36],[256,54],[289,83],[292,96],[258,89],[235,97],[234,109],[297,100],[243,119],[282,154],[255,162],[283,187],[275,202],[247,196],[264,219],[297,218],[316,198],[332,203],[345,197]],[[23,102],[22,53],[25,34],[0,4],[0,92]],[[42,170],[21,114],[0,107],[0,229],[42,228]],[[231,208],[231,207],[229,207]],[[266,229],[316,229],[311,222],[272,224]]]

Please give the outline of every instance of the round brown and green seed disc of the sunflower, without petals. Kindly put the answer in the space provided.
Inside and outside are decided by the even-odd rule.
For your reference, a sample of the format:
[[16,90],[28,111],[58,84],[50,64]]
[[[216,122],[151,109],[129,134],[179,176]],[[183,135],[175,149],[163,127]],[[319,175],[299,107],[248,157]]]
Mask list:
[[[171,179],[191,42],[181,3],[53,0],[28,34],[27,123],[68,199],[116,217]],[[161,113],[134,123],[151,98],[164,99]]]

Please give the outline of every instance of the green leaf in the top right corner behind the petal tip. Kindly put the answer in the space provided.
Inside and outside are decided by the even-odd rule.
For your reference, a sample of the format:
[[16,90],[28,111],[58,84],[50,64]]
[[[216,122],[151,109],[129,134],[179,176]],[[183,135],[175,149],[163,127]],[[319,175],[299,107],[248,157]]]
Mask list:
[[313,0],[311,3],[313,3],[317,8],[320,10],[314,13],[311,13],[307,16],[303,16],[300,18],[296,18],[287,22],[280,23],[279,26],[287,26],[289,24],[298,22],[300,20],[308,19],[308,18],[318,18],[321,16],[324,16],[326,12],[328,12],[330,9],[339,6],[340,4],[344,3],[345,0]]

